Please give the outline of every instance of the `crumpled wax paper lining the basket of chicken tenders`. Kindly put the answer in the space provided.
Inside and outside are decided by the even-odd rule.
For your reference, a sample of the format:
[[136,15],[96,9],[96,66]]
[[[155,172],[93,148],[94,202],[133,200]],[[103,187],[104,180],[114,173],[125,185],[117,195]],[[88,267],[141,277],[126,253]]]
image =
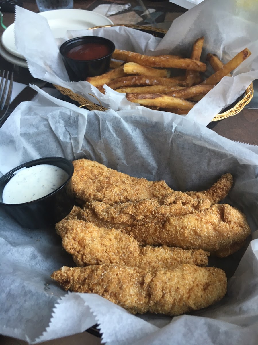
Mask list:
[[231,277],[221,302],[174,318],[132,315],[98,295],[64,292],[50,275],[63,265],[75,265],[54,227],[23,229],[0,209],[0,333],[39,343],[97,323],[108,345],[224,345],[229,339],[235,345],[257,344],[254,147],[223,138],[180,115],[146,108],[137,114],[132,109],[87,111],[34,88],[39,91],[37,102],[21,103],[0,128],[1,174],[40,157],[89,158],[131,176],[164,179],[173,189],[186,191],[208,188],[231,172],[234,187],[225,202],[246,214],[253,234],[247,250],[210,260]]

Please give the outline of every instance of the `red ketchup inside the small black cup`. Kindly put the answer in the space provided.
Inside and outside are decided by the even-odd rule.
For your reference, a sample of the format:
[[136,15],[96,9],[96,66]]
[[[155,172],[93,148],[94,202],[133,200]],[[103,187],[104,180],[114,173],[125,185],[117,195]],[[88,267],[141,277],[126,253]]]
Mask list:
[[103,43],[83,43],[69,50],[66,56],[75,60],[95,60],[104,58],[109,53],[109,47]]

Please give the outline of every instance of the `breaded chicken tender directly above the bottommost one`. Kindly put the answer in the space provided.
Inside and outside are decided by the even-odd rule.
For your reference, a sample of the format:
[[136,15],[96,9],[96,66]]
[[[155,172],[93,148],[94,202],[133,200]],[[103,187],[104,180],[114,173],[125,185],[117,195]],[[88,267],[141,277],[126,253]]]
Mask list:
[[[76,208],[76,206],[75,206]],[[142,269],[171,268],[181,264],[206,266],[208,252],[167,246],[142,247],[133,237],[116,229],[106,229],[67,217],[56,224],[67,253],[77,266],[118,264]]]

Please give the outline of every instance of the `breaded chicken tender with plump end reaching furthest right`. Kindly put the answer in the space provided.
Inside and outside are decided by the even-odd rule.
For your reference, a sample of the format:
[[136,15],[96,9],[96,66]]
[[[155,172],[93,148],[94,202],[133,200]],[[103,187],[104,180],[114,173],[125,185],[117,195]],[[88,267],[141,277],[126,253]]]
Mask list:
[[76,217],[107,229],[114,227],[142,245],[203,249],[226,257],[240,249],[250,235],[245,215],[228,204],[215,204],[200,213],[177,217],[157,214],[151,222],[137,220],[130,225],[100,219],[89,205],[85,204]]

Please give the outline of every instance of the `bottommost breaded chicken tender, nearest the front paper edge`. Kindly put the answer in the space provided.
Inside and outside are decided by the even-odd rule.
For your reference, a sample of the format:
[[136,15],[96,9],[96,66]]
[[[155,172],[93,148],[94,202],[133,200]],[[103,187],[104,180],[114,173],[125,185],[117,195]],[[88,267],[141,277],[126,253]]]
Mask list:
[[149,271],[119,265],[64,266],[51,277],[65,290],[98,294],[133,314],[180,315],[216,303],[227,289],[222,269],[187,264]]

